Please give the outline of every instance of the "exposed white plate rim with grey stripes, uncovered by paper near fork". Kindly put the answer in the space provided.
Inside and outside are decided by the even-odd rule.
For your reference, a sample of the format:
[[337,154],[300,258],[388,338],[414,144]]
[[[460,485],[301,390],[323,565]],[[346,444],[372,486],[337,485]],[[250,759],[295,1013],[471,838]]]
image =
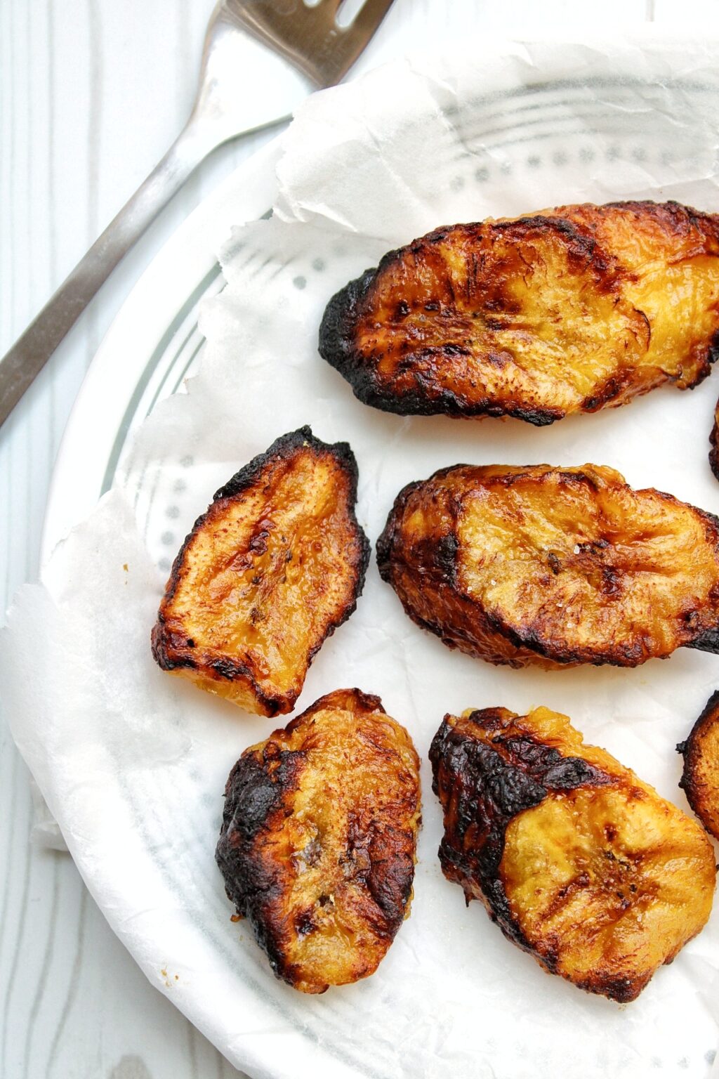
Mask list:
[[[280,136],[281,137],[281,136]],[[202,301],[224,282],[217,251],[233,224],[262,217],[277,190],[280,137],[240,165],[153,259],[110,327],[63,436],[47,496],[41,562],[112,487],[133,432],[181,390],[202,354]]]

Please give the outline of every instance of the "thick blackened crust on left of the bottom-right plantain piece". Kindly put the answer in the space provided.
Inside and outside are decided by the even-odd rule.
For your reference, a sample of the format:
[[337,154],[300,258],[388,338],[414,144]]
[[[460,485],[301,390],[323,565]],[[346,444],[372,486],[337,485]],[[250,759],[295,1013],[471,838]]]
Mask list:
[[[515,718],[504,708],[484,708],[462,720],[496,732],[492,740],[497,749],[457,730],[448,714],[440,724],[429,750],[432,791],[440,800],[444,818],[438,855],[444,876],[461,885],[467,903],[476,898],[471,885],[478,884],[489,917],[504,937],[556,974],[558,954],[540,955],[512,915],[500,873],[507,828],[514,817],[540,805],[552,791],[605,787],[613,779],[582,757],[563,756],[529,734],[502,737],[502,729]],[[465,851],[461,841],[470,830],[472,846]],[[619,1002],[636,996],[626,979],[587,982],[580,987]]]

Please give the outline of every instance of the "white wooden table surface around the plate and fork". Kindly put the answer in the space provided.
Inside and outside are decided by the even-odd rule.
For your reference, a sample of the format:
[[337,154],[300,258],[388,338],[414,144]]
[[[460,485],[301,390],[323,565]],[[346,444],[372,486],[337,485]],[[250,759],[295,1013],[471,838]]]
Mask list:
[[[1,0],[0,354],[179,131],[212,2]],[[719,38],[719,0],[396,0],[367,66],[453,35],[465,45],[490,32],[610,37],[645,22]],[[178,223],[265,138],[198,170],[0,429],[0,613],[37,579],[59,439],[114,313]],[[69,856],[29,843],[31,823],[28,773],[0,716],[0,1077],[237,1076],[146,981]]]

